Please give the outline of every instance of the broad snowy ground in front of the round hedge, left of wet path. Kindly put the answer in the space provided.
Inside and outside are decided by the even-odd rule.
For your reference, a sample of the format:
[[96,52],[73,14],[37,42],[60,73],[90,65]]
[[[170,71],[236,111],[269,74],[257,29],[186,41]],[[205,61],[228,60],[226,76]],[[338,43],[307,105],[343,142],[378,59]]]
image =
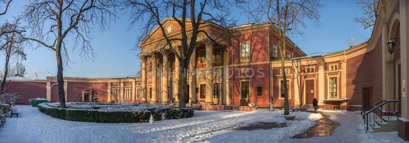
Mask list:
[[[16,106],[18,118],[7,118],[0,142],[279,142],[305,132],[321,114],[292,112],[298,120],[284,120],[283,110],[195,111],[192,118],[149,123],[86,123],[47,116],[31,106]],[[10,114],[10,113],[9,113]],[[243,123],[278,122],[287,127],[229,130]]]

